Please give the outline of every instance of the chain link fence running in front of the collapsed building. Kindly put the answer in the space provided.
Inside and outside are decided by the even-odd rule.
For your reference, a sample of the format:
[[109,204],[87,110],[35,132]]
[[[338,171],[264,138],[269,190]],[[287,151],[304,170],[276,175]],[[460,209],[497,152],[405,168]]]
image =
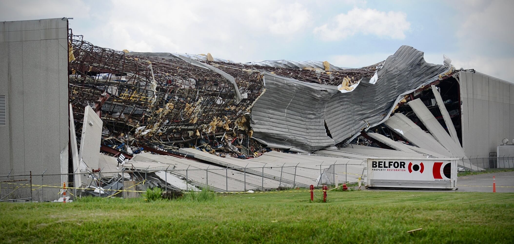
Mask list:
[[[473,170],[514,168],[514,156],[476,156],[461,158]],[[308,188],[310,185],[354,183],[362,178],[365,160],[360,164],[311,162],[296,165],[261,167],[225,167],[208,165],[205,168],[172,166],[161,169],[136,169],[131,164],[120,165],[119,171],[106,169],[93,172],[48,172],[0,176],[0,201],[54,201],[59,199],[66,180],[68,196],[124,197],[138,196],[150,187],[164,190],[199,190],[209,187],[216,192]],[[474,169],[476,167],[476,169]],[[75,184],[74,175],[81,176]],[[362,179],[364,180],[364,179]]]

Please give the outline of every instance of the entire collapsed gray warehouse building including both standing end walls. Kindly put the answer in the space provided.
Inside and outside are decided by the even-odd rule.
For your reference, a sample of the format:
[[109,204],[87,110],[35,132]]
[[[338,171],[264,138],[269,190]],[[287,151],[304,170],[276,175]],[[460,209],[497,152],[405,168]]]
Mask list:
[[512,83],[446,57],[427,63],[410,46],[361,68],[235,63],[103,48],[67,24],[0,25],[2,175],[49,170],[41,184],[98,196],[135,179],[177,190],[306,187],[337,172],[355,182],[370,156],[498,167],[484,158],[514,135]]

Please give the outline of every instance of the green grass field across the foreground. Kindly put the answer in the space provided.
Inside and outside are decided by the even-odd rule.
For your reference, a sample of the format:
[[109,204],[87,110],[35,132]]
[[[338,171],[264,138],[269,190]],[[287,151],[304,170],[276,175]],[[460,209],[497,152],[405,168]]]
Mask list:
[[[327,203],[310,203],[308,194],[226,195],[207,202],[0,203],[0,242],[514,241],[514,194],[330,191]],[[417,228],[423,230],[407,233]]]

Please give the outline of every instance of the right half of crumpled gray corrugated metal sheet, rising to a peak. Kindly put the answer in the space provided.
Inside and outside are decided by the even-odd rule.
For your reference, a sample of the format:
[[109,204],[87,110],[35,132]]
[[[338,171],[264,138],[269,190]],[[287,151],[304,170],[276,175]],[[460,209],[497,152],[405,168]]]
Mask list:
[[448,68],[427,63],[422,51],[401,46],[378,69],[376,84],[359,85],[354,91],[336,94],[328,101],[325,120],[334,141],[340,143],[362,129],[380,124],[401,95],[430,83]]

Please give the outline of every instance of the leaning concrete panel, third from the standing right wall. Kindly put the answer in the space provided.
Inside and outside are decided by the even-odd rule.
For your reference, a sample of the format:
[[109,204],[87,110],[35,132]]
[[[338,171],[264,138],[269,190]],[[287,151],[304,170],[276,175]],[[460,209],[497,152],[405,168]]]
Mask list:
[[407,116],[401,113],[393,114],[393,116],[389,117],[389,119],[384,122],[384,125],[395,131],[401,130],[403,133],[400,133],[399,135],[417,147],[438,152],[445,156],[452,156],[452,154],[437,140],[435,140],[430,133],[425,132]]

